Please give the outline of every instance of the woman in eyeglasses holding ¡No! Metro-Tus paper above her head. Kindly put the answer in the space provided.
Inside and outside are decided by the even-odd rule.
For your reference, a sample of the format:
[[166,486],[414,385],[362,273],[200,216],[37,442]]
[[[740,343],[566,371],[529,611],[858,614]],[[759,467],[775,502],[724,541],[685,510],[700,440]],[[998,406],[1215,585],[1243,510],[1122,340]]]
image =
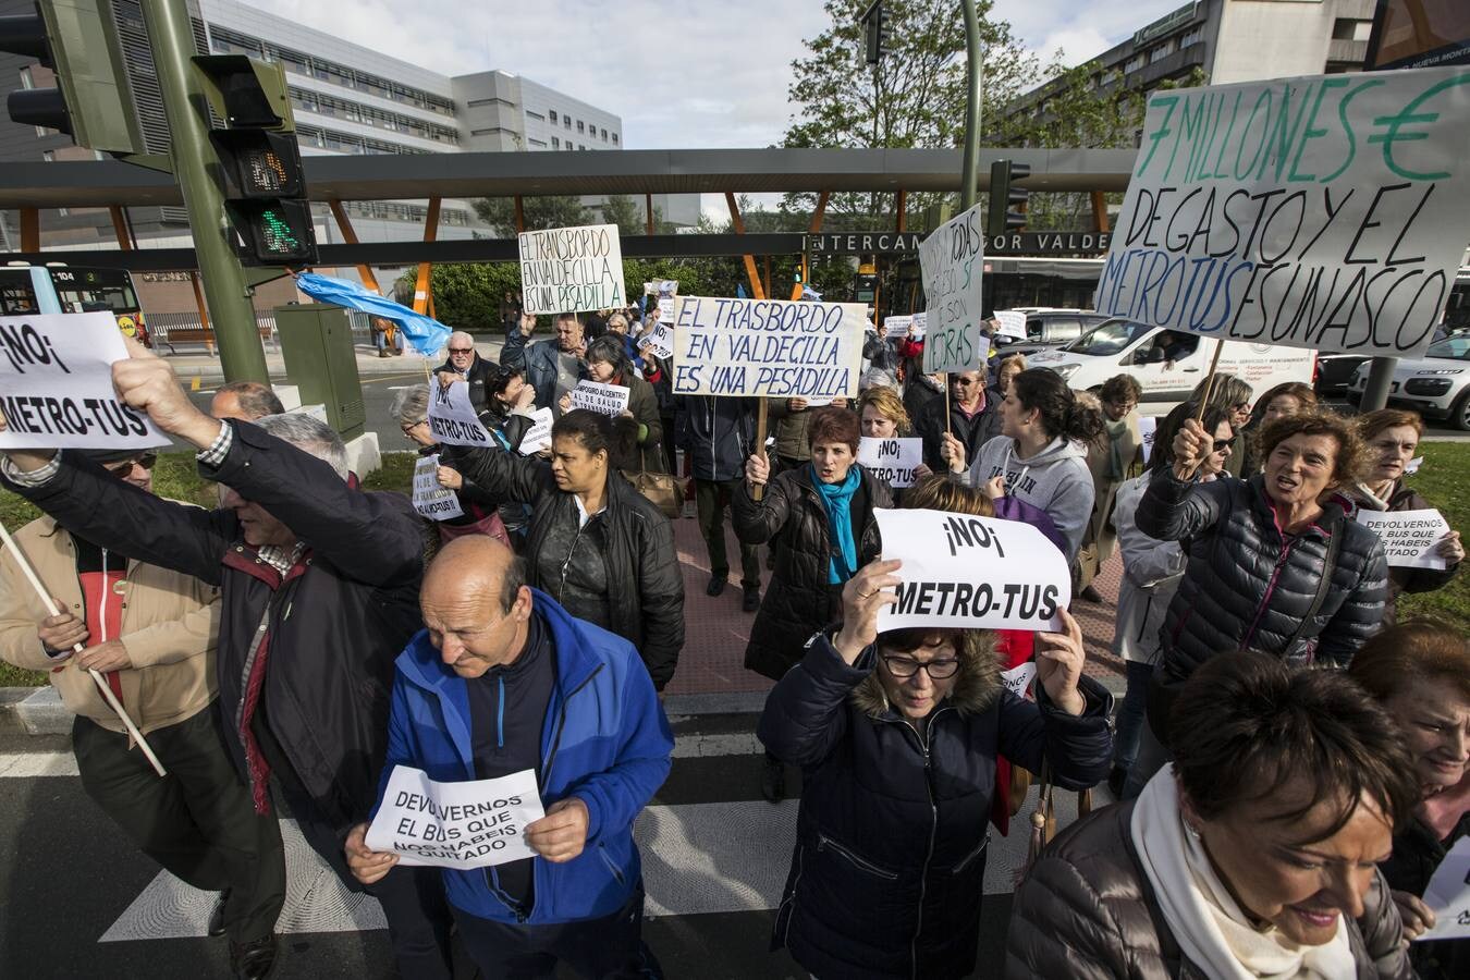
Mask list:
[[1001,685],[988,632],[878,632],[903,574],[873,561],[842,586],[842,626],[811,638],[757,727],[803,767],[773,945],[817,977],[969,976],[997,755],[1033,773],[1045,760],[1067,789],[1107,773],[1111,699],[1082,674],[1075,619],[1036,636],[1028,701]]

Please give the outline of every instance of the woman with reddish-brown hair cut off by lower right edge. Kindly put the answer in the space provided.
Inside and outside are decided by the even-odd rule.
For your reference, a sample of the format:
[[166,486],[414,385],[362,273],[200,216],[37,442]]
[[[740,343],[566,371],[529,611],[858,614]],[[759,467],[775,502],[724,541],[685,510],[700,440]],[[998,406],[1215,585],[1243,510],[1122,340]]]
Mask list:
[[[1379,864],[1404,932],[1417,939],[1435,926],[1421,901],[1429,880],[1470,836],[1470,644],[1446,624],[1404,623],[1364,644],[1348,674],[1398,723],[1423,789],[1414,815],[1395,829],[1392,857]],[[1470,977],[1470,937],[1414,943],[1410,958],[1420,980]]]

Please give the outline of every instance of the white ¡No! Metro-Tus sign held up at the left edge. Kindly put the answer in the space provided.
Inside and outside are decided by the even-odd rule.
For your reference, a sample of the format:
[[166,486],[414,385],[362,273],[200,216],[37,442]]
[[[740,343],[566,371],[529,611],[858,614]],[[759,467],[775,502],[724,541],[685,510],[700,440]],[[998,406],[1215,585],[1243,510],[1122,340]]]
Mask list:
[[0,317],[0,450],[169,445],[147,413],[118,401],[112,363],[128,348],[110,313]]

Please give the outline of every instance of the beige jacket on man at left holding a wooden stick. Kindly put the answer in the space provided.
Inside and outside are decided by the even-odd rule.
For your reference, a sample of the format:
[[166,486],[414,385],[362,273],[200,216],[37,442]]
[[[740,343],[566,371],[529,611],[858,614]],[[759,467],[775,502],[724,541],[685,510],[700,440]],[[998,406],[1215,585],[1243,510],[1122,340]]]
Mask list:
[[[72,536],[50,517],[15,535],[41,583],[74,616],[85,616]],[[198,579],[138,561],[128,563],[122,585],[122,641],[134,669],[122,670],[122,702],[148,733],[193,717],[215,699],[215,638],[219,589]],[[37,626],[50,611],[25,580],[9,550],[0,552],[0,658],[16,667],[50,671]],[[87,644],[100,642],[88,636]],[[71,661],[49,674],[66,707],[112,732],[122,723],[103,701],[87,671]]]

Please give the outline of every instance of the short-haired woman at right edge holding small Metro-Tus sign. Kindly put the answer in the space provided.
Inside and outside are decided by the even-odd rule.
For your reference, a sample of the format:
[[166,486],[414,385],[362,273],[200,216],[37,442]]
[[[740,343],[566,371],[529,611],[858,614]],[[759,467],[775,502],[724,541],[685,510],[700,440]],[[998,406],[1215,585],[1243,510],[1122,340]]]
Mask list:
[[[1432,504],[1419,491],[1404,486],[1408,464],[1424,435],[1424,422],[1417,411],[1380,408],[1357,417],[1358,436],[1369,448],[1367,476],[1349,492],[1363,510],[1404,511],[1430,510]],[[1394,623],[1398,597],[1402,592],[1433,592],[1449,585],[1464,561],[1466,550],[1460,532],[1451,530],[1439,539],[1435,554],[1445,560],[1444,569],[1410,569],[1392,566],[1388,570],[1388,605],[1383,621]]]

